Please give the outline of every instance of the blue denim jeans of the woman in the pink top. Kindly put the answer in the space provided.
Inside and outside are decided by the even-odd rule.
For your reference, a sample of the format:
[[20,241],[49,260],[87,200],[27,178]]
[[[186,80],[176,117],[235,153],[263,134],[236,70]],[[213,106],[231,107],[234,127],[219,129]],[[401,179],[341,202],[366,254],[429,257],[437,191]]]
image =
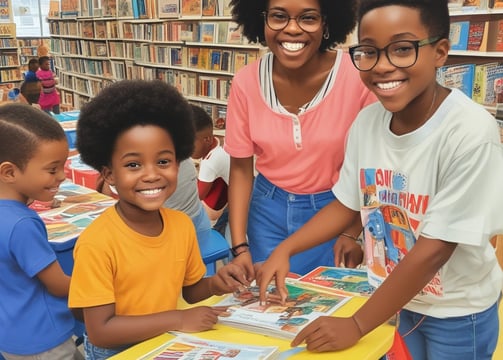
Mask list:
[[[263,175],[255,178],[248,215],[248,242],[253,262],[266,260],[289,235],[335,199],[331,190],[299,195],[273,185]],[[290,271],[305,274],[317,266],[334,266],[335,239],[290,259]]]

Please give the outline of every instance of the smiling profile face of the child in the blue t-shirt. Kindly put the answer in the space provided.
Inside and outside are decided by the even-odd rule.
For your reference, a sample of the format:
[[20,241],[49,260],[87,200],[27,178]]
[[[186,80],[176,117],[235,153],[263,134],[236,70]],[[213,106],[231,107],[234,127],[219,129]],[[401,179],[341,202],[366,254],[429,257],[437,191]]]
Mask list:
[[28,199],[51,201],[58,192],[59,185],[65,180],[64,165],[67,157],[66,139],[42,141],[35,151],[35,156],[23,170],[3,163],[2,167],[12,167],[11,194],[8,198],[22,203],[26,203]]

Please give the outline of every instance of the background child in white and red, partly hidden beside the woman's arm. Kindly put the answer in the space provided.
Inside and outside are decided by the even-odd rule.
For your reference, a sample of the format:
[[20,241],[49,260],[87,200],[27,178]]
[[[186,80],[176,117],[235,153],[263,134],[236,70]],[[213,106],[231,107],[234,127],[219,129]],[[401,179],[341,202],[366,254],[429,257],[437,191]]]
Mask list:
[[192,105],[196,140],[193,159],[201,159],[197,188],[199,199],[206,206],[210,220],[216,221],[215,228],[225,235],[227,225],[227,187],[229,184],[230,157],[220,140],[213,135],[213,121],[201,107]]

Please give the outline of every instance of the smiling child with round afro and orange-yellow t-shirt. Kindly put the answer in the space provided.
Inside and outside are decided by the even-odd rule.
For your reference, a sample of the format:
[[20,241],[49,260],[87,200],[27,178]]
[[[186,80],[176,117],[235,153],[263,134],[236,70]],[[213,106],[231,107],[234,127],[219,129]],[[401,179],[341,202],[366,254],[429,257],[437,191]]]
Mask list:
[[103,89],[80,112],[82,160],[114,186],[118,201],[80,235],[69,306],[82,308],[86,356],[104,359],[166,331],[203,331],[221,309],[177,310],[237,290],[234,264],[204,277],[194,225],[163,207],[175,192],[179,163],[194,146],[192,110],[161,81],[124,80]]

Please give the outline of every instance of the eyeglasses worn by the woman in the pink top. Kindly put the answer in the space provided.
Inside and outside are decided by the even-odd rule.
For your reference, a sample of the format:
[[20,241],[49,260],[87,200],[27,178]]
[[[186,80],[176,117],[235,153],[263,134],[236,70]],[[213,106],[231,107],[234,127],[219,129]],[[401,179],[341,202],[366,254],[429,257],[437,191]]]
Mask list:
[[324,17],[321,14],[309,11],[298,16],[290,16],[288,13],[280,10],[264,11],[262,13],[264,21],[269,29],[281,31],[288,26],[290,20],[295,20],[297,26],[302,31],[311,33],[318,31],[323,24]]

